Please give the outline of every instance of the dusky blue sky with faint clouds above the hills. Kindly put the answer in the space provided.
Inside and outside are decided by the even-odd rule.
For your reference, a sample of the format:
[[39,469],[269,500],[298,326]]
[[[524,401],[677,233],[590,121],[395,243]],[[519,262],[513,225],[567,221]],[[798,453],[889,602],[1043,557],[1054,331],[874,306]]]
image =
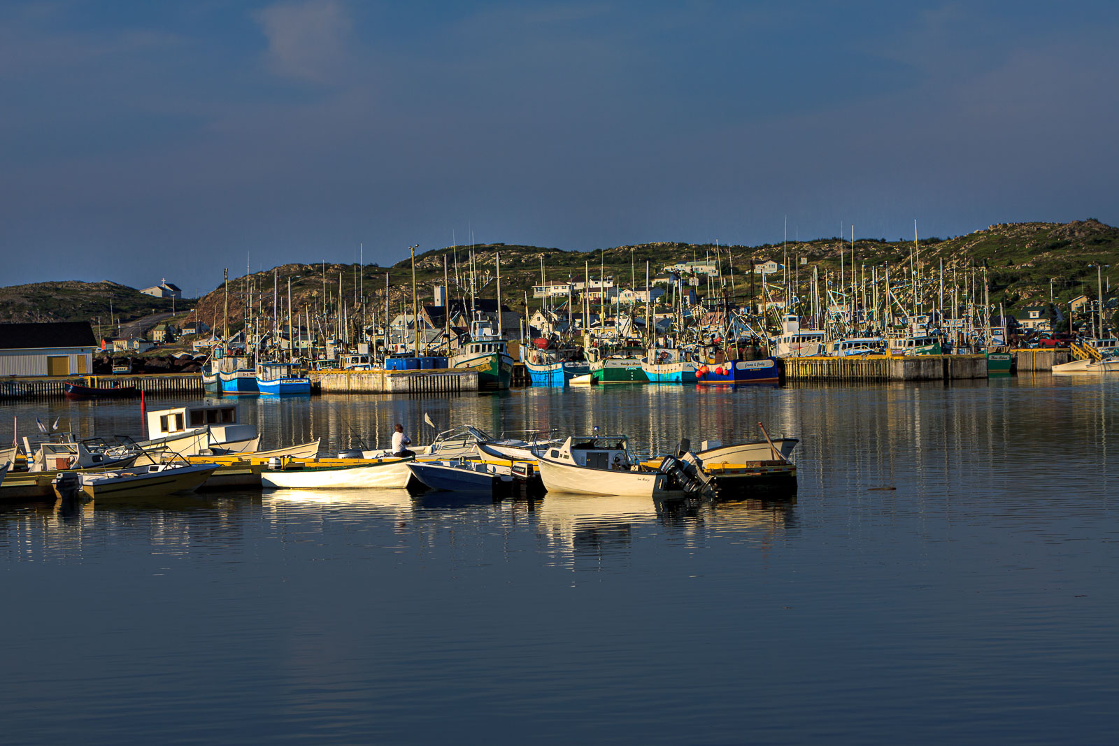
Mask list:
[[1119,223],[1119,3],[0,4],[0,284]]

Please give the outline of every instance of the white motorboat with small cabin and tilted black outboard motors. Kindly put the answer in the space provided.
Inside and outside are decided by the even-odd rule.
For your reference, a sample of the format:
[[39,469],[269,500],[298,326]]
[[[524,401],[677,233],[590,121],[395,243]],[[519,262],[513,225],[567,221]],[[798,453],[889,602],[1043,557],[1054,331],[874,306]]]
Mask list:
[[540,453],[537,468],[548,492],[632,497],[684,497],[706,489],[703,474],[676,457],[659,468],[630,455],[624,435],[568,437]]

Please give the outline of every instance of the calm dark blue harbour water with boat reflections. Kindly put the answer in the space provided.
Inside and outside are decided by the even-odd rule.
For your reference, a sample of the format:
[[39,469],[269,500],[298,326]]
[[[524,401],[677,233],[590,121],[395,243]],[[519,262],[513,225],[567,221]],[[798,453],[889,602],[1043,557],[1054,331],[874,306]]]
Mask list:
[[[641,450],[763,422],[802,438],[799,491],[0,507],[0,740],[1112,744],[1117,391],[246,399],[267,447],[426,441],[424,413]],[[3,414],[139,435],[133,405]]]

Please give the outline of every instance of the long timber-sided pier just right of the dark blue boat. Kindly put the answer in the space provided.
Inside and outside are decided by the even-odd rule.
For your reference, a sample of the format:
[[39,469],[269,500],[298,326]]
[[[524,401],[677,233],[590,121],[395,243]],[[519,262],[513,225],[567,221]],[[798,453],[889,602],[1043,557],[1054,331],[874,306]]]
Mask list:
[[956,380],[987,377],[984,355],[868,355],[848,358],[783,358],[788,381]]

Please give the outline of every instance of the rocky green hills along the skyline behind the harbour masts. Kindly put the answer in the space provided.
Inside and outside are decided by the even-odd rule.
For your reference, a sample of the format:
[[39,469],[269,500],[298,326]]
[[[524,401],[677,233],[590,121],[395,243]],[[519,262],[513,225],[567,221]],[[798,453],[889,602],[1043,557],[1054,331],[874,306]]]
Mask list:
[[[991,302],[1005,303],[1007,308],[1047,302],[1051,278],[1054,298],[1059,302],[1066,302],[1082,292],[1094,296],[1097,271],[1090,266],[1092,263],[1110,265],[1103,271],[1104,276],[1112,267],[1119,272],[1119,228],[1094,219],[1069,224],[1000,224],[965,236],[922,238],[919,248],[925,275],[935,273],[941,262],[948,277],[953,271],[959,273],[972,266],[986,267]],[[913,249],[910,239],[858,238],[854,244],[856,264],[867,267],[883,264],[908,267]],[[444,257],[452,294],[458,296],[461,293],[455,290],[455,259],[461,285],[466,285],[470,252],[470,247],[458,246],[432,249],[416,256],[421,302],[430,302],[432,287],[443,283]],[[767,259],[782,262],[787,257],[790,270],[799,266],[799,276],[805,281],[814,266],[819,267],[821,274],[837,271],[840,253],[849,267],[852,244],[835,237],[789,242],[783,247],[781,244],[716,247],[713,244],[667,242],[590,252],[506,244],[473,247],[478,284],[482,286],[479,296],[496,298],[496,258],[500,254],[501,296],[516,310],[524,309],[526,292],[529,308],[539,305],[532,298],[532,285],[540,281],[542,261],[549,281],[582,280],[584,267],[589,264],[592,277],[598,277],[604,265],[605,275],[614,277],[619,285],[629,286],[633,278],[638,287],[643,287],[646,261],[650,262],[651,274],[656,276],[666,265],[707,257],[714,259],[717,254],[727,275],[733,264],[734,293],[737,299],[746,300],[751,291],[754,295],[760,292],[758,277],[750,271],[751,263]],[[799,257],[806,257],[807,264],[800,265]],[[408,257],[391,267],[375,264],[285,264],[250,275],[247,282],[245,277],[229,282],[231,328],[242,325],[246,303],[271,312],[274,287],[279,291],[281,305],[286,306],[289,281],[295,309],[310,309],[312,314],[321,311],[323,302],[328,312],[332,312],[339,296],[339,282],[349,312],[352,313],[359,295],[364,295],[370,320],[374,313],[378,319],[384,315],[386,300],[392,315],[401,313],[412,303],[412,263]],[[700,287],[700,292],[703,290]],[[224,319],[224,299],[222,287],[199,299],[198,319],[219,329]],[[0,320],[73,321],[94,320],[100,315],[104,321],[109,318],[110,301],[114,315],[124,321],[171,310],[170,301],[150,298],[112,282],[36,283],[0,289]],[[182,301],[180,305],[189,308],[188,303]]]

